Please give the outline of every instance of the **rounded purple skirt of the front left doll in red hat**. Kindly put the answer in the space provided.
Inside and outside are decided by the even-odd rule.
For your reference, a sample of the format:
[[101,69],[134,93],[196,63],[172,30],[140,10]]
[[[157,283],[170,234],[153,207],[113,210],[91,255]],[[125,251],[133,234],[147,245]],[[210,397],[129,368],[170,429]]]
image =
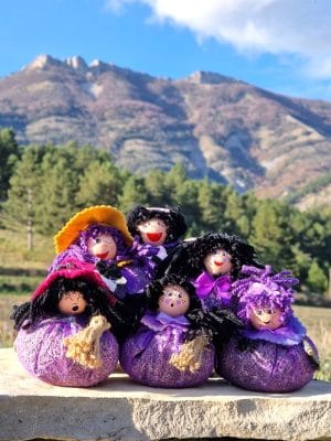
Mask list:
[[83,329],[67,319],[44,320],[21,329],[14,342],[19,361],[34,377],[54,386],[88,387],[105,380],[118,362],[118,343],[106,331],[100,338],[102,366],[83,367],[65,356],[62,341]]

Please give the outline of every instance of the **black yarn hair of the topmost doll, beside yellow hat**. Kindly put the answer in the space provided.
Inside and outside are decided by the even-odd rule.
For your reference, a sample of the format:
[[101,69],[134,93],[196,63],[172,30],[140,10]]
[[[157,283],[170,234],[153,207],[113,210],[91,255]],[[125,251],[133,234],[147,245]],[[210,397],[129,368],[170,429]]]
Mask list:
[[168,226],[166,244],[178,240],[188,229],[186,222],[181,214],[180,207],[161,208],[135,205],[127,213],[126,217],[128,229],[132,236],[139,235],[137,226],[140,222],[150,220],[153,217],[163,220]]

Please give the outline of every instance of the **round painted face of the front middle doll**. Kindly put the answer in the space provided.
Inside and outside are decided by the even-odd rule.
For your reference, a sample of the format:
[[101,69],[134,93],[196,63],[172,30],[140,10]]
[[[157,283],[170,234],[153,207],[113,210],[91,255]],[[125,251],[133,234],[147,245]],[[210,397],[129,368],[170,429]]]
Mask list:
[[183,315],[189,311],[190,295],[179,284],[167,284],[159,299],[159,311],[172,318]]

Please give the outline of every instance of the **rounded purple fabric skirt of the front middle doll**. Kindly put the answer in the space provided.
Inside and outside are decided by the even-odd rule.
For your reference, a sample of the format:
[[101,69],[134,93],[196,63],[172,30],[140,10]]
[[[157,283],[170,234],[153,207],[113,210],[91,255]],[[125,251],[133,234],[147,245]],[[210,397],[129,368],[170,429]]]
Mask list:
[[173,349],[168,345],[160,351],[156,336],[151,330],[139,331],[120,348],[119,362],[132,379],[146,386],[167,388],[193,387],[207,380],[214,367],[212,346],[204,349],[199,369],[182,372],[169,363]]

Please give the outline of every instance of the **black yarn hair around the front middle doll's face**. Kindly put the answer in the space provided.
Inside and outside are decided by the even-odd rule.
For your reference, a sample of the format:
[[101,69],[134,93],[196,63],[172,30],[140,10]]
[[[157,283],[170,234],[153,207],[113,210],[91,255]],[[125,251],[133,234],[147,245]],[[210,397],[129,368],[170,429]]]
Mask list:
[[146,289],[147,305],[150,310],[158,310],[159,299],[163,293],[164,287],[168,284],[179,284],[188,292],[190,297],[189,311],[202,308],[199,297],[195,293],[195,288],[189,282],[188,278],[178,275],[167,275],[161,279],[153,280]]

